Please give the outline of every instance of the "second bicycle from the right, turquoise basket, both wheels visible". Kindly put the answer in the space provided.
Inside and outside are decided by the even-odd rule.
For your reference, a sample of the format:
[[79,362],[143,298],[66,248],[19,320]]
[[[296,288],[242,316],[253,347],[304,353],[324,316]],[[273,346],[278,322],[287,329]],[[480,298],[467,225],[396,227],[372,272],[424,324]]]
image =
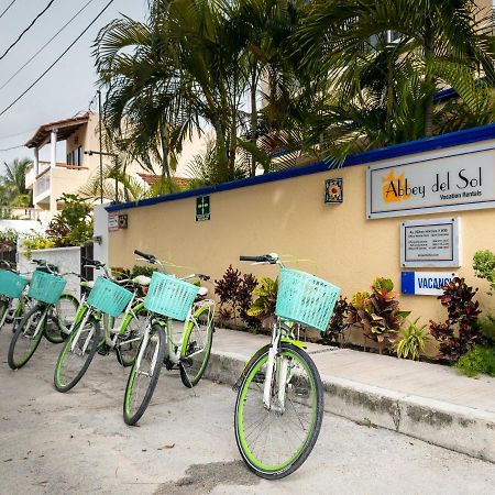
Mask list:
[[[153,254],[135,250],[143,261],[165,270],[165,263]],[[167,370],[179,369],[183,384],[196,386],[205,373],[210,358],[215,326],[215,301],[206,299],[208,289],[186,282],[202,274],[177,278],[154,272],[144,307],[150,311],[134,365],[129,374],[123,402],[127,425],[135,425],[148,406],[163,364]],[[178,336],[173,321],[184,321]]]

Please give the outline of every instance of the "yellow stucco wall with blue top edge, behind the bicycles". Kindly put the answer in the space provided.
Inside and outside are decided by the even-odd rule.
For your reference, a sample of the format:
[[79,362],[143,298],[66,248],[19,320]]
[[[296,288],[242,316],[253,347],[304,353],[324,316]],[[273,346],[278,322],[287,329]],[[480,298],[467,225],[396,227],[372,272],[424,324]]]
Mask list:
[[[495,141],[475,146],[495,146]],[[462,151],[464,148],[458,146],[410,155],[403,161]],[[475,155],[470,156],[475,161]],[[425,270],[455,270],[481,288],[480,299],[485,311],[495,306],[495,299],[485,295],[486,283],[475,278],[472,270],[476,250],[495,251],[495,209],[366,220],[365,173],[366,166],[359,165],[212,194],[211,220],[205,222],[195,221],[194,197],[124,210],[122,212],[129,216],[129,229],[110,233],[110,263],[131,266],[135,264],[133,250],[139,249],[189,266],[185,272],[194,270],[212,278],[221,277],[229,264],[257,277],[274,277],[275,267],[250,266],[240,263],[239,255],[277,252],[308,260],[289,266],[332,282],[350,298],[358,290],[369,289],[376,276],[391,277],[400,290],[402,221],[455,216],[461,219],[462,267]],[[332,177],[343,178],[341,205],[323,202],[324,179]],[[403,309],[411,310],[411,318],[420,317],[421,322],[447,318],[435,296],[402,295],[400,300]]]

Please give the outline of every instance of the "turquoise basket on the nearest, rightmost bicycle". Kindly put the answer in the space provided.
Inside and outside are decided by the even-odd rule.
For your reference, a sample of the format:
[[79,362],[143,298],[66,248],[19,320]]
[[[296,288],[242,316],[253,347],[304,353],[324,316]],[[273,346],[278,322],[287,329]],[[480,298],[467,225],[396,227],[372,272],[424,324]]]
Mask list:
[[340,288],[298,270],[282,268],[275,315],[327,330]]

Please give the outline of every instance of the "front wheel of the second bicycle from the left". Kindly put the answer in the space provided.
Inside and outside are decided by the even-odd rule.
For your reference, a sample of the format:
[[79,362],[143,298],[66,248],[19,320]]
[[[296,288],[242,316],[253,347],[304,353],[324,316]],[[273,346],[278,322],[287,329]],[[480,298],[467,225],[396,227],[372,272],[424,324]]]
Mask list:
[[12,370],[24,366],[32,358],[44,333],[45,308],[32,308],[21,320],[9,346],[8,363]]

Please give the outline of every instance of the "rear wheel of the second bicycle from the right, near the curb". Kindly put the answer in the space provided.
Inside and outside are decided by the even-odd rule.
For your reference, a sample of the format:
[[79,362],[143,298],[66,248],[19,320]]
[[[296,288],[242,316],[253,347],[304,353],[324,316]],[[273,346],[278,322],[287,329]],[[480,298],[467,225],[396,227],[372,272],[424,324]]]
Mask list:
[[[195,387],[199,383],[210,359],[215,332],[212,318],[210,319],[210,307],[205,306],[199,308],[194,315],[197,319],[206,317],[206,336],[200,334],[200,330],[195,328],[194,321],[189,321],[189,328],[185,332],[185,340],[180,356],[180,380],[187,388]],[[205,342],[205,352],[202,354],[197,354],[197,341],[201,339],[202,342]],[[195,360],[196,355],[198,355],[198,360]]]

